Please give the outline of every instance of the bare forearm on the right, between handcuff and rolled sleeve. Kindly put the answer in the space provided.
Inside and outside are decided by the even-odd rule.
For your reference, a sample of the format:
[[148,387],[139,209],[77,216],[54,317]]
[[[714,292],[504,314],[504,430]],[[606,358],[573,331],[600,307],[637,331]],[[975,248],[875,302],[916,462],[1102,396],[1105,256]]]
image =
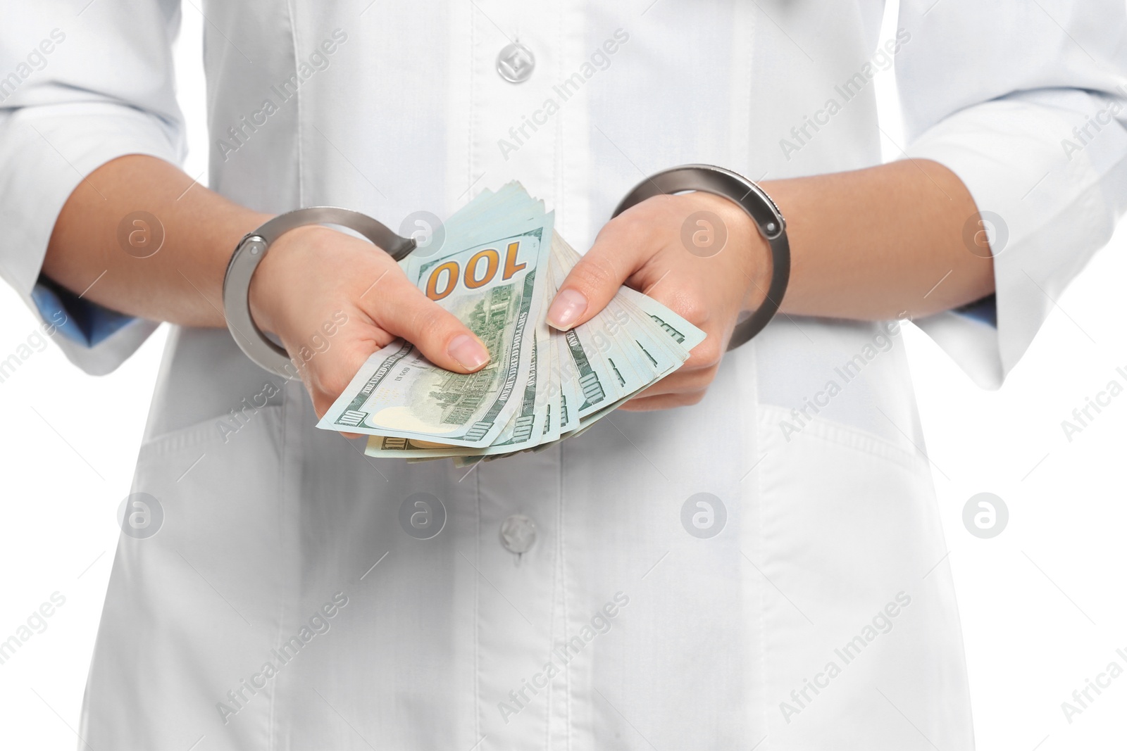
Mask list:
[[974,199],[942,164],[904,160],[763,188],[787,217],[786,313],[915,318],[994,292],[988,247],[980,235],[974,252],[964,241]]

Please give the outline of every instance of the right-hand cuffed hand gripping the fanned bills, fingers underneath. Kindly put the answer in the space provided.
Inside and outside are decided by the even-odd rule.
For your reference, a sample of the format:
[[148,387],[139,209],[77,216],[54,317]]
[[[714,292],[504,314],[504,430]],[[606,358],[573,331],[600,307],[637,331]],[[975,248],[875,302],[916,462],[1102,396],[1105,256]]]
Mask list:
[[[698,212],[711,216],[694,217]],[[739,313],[765,294],[770,268],[766,241],[737,204],[708,193],[655,196],[603,226],[565,279],[548,322],[567,330],[588,321],[623,284],[654,297],[708,336],[681,368],[621,409],[695,404],[716,377]]]

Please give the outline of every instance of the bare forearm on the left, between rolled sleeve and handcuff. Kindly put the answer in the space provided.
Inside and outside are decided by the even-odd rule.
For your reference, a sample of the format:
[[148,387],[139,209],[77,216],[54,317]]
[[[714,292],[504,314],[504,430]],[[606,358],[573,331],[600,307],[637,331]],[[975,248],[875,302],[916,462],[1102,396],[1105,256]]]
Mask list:
[[[143,243],[144,225],[119,225],[135,212],[157,217],[160,249]],[[90,173],[55,222],[43,271],[106,307],[154,321],[222,327],[223,274],[236,243],[269,218],[239,206],[152,157],[115,159]],[[160,227],[148,227],[160,232]],[[149,242],[152,242],[150,235]],[[126,250],[128,249],[128,250]]]

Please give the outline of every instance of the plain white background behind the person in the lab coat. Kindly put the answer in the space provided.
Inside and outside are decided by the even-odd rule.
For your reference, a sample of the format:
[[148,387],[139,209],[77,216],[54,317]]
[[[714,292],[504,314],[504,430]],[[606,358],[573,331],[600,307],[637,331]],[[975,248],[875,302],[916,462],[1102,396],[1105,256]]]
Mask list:
[[[185,3],[184,16],[179,92],[192,146],[186,170],[196,177],[205,171],[207,143],[202,18],[193,3]],[[891,36],[894,20],[886,20],[881,39]],[[882,114],[894,113],[889,75],[878,79],[878,92]],[[885,131],[900,142],[891,115]],[[887,155],[895,158],[891,142]],[[1110,661],[1127,668],[1116,654],[1127,654],[1127,394],[1071,442],[1061,422],[1109,381],[1127,385],[1116,372],[1121,366],[1127,373],[1125,249],[1121,226],[1057,301],[999,392],[978,390],[907,327],[962,616],[978,748],[987,751],[1124,746],[1127,676],[1071,724],[1061,703]],[[37,330],[37,320],[2,288],[0,321],[3,359]],[[87,667],[118,534],[116,509],[130,489],[163,340],[161,330],[103,378],[82,375],[48,347],[0,383],[0,641],[53,592],[65,597],[47,628],[0,665],[0,748],[79,743]],[[1010,510],[1009,526],[993,539],[962,526],[964,504],[980,491],[999,494]]]

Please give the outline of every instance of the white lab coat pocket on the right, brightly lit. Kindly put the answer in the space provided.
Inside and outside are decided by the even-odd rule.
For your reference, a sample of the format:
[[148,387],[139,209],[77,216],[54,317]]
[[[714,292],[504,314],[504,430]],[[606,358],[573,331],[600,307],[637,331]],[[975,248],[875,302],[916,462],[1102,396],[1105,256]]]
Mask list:
[[772,585],[764,604],[769,734],[779,748],[834,739],[850,739],[836,748],[914,748],[919,732],[939,748],[973,748],[926,457],[907,439],[829,420],[784,437],[779,424],[789,417],[761,406],[754,557]]

